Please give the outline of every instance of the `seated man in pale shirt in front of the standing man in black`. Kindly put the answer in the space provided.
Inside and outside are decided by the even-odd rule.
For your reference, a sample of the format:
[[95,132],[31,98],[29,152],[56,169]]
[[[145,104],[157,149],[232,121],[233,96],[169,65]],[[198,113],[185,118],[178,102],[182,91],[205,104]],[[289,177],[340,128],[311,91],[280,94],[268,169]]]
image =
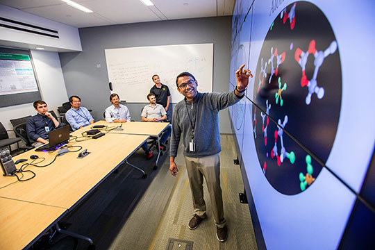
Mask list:
[[[167,119],[167,112],[165,112],[165,109],[160,104],[156,103],[156,97],[155,94],[150,93],[147,94],[147,99],[149,99],[150,104],[147,106],[144,106],[142,110],[142,121],[143,122],[162,122],[165,119]],[[165,131],[163,135],[160,138],[160,143],[164,144],[169,135],[171,134],[171,126],[167,126],[165,128]],[[146,145],[147,147],[147,145]],[[143,145],[142,145],[143,148]],[[147,150],[147,148],[143,148],[144,150]]]

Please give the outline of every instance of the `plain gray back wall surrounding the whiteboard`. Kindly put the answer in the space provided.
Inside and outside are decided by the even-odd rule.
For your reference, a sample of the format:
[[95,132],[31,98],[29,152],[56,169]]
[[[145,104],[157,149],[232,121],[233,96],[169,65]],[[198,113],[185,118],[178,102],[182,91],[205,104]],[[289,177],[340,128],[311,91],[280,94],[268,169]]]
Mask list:
[[[214,44],[213,91],[228,92],[231,22],[231,17],[208,17],[80,28],[83,51],[60,53],[67,94],[77,94],[82,105],[93,110],[94,119],[103,119],[110,106],[104,49],[196,43]],[[144,99],[144,103],[126,103],[135,121],[141,120]],[[219,121],[220,133],[232,133],[226,110],[219,113]]]

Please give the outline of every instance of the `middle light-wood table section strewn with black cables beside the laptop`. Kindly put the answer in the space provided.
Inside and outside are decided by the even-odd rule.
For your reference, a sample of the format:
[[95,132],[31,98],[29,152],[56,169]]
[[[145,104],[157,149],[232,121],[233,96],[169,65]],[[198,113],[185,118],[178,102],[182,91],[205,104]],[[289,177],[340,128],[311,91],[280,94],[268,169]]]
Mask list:
[[[81,133],[80,131],[77,131]],[[91,139],[83,142],[71,142],[69,145],[79,145],[91,152],[85,158],[78,159],[78,153],[66,153],[57,156],[55,162],[48,167],[28,166],[26,170],[32,170],[36,176],[29,181],[9,183],[17,181],[14,176],[0,178],[0,197],[29,201],[49,206],[69,209],[80,199],[103,181],[108,174],[113,172],[115,167],[140,147],[148,135],[119,135],[107,133],[99,139]],[[69,150],[74,151],[77,148]],[[83,150],[81,149],[81,151]],[[80,152],[81,152],[80,151]],[[56,154],[48,152],[27,151],[13,158],[14,161],[20,158],[28,159],[25,163],[31,163],[29,156],[35,154],[44,157],[42,163],[35,160],[35,165],[46,165],[51,163]],[[21,167],[23,163],[16,165]],[[25,178],[31,176],[24,173]],[[19,174],[20,176],[20,174]],[[0,248],[1,249],[1,248]]]

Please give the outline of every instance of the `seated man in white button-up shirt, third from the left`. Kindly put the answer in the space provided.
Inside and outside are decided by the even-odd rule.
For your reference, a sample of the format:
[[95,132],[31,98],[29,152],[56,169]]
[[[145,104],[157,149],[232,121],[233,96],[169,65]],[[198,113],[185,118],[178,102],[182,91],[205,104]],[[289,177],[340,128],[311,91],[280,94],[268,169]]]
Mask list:
[[111,94],[110,102],[113,104],[106,108],[106,122],[130,122],[131,115],[126,106],[119,103],[119,95]]

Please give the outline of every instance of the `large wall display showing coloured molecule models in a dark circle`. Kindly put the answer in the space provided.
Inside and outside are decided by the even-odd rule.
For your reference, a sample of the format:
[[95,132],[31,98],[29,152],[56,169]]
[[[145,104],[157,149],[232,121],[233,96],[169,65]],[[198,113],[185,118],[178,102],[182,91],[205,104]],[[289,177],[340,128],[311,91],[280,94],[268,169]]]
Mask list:
[[230,114],[260,248],[345,247],[356,208],[375,218],[375,190],[363,185],[374,10],[370,0],[235,3],[229,87],[242,64],[254,77]]

